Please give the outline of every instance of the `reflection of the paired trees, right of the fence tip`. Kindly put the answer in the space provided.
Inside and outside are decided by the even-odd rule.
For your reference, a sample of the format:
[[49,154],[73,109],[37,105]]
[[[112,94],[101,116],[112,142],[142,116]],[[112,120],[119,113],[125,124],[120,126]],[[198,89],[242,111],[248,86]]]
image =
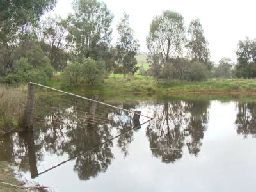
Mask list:
[[189,153],[198,156],[207,129],[208,107],[205,100],[156,104],[156,120],[147,127],[152,154],[164,163],[173,163],[182,157],[186,144]]

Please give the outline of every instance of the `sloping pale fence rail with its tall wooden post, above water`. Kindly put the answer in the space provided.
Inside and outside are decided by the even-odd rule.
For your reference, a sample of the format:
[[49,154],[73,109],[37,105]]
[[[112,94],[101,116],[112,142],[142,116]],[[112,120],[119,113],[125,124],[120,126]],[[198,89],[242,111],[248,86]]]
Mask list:
[[[29,82],[28,83],[28,100],[27,100],[27,108],[26,108],[26,129],[33,129],[33,113],[34,113],[34,103],[35,103],[35,87],[34,86],[40,86],[40,87],[43,87],[43,88],[47,88],[49,90],[54,90],[56,92],[60,92],[60,93],[65,93],[67,95],[71,95],[71,96],[74,96],[74,97],[78,97],[80,99],[85,99],[85,100],[89,100],[90,102],[92,103],[98,103],[98,104],[103,104],[105,106],[109,106],[111,108],[115,108],[115,109],[120,109],[122,111],[126,111],[126,112],[129,112],[129,113],[133,113],[134,114],[134,118],[136,118],[136,120],[138,120],[140,118],[140,116],[143,116],[143,117],[146,117],[148,118],[149,120],[152,120],[153,118],[150,117],[150,116],[146,116],[146,115],[141,115],[140,114],[140,111],[129,111],[127,109],[123,109],[123,108],[119,108],[119,107],[116,107],[116,106],[113,106],[111,104],[106,104],[104,102],[100,102],[98,101],[98,97],[93,97],[93,99],[89,99],[87,97],[83,97],[83,96],[80,96],[80,95],[76,95],[76,94],[73,94],[73,93],[68,93],[68,92],[64,92],[64,91],[61,91],[61,90],[58,90],[56,88],[51,88],[49,86],[44,86],[42,84],[38,84],[38,83],[33,83],[33,82]],[[95,100],[94,100],[95,99]],[[92,105],[93,106],[93,105]],[[93,107],[94,108],[94,107]],[[93,110],[93,109],[92,109]]]

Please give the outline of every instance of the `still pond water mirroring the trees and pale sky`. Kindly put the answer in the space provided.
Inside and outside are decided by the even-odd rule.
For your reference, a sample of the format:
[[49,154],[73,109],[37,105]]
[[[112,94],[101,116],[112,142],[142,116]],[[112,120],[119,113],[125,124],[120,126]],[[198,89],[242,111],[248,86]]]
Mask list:
[[0,137],[0,161],[52,191],[255,191],[256,102],[194,98],[111,102],[154,117],[140,124],[41,98],[33,132]]

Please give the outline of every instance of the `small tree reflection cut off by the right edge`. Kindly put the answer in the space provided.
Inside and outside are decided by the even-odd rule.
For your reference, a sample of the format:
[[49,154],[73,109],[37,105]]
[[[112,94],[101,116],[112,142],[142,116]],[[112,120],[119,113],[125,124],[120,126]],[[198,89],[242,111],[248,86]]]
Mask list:
[[247,138],[251,135],[256,137],[256,103],[244,102],[238,103],[238,113],[236,116],[236,131],[237,134]]

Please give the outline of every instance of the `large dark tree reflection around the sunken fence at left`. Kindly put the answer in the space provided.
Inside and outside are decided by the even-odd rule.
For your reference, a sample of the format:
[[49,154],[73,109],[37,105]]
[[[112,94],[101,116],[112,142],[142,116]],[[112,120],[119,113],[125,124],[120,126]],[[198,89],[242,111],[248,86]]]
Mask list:
[[[109,140],[118,134],[122,135],[117,139],[117,145],[127,156],[128,145],[134,140],[133,132],[129,131],[134,128],[132,113],[101,107],[95,109],[93,117],[81,118],[86,116],[83,111],[88,110],[88,106],[76,100],[72,100],[71,106],[61,105],[56,101],[49,102],[50,99],[38,102],[42,107],[36,113],[41,118],[37,119],[34,132],[1,138],[1,161],[12,162],[19,171],[29,171],[32,177],[36,177],[38,172],[49,168],[44,166],[40,170],[42,164],[54,167],[61,163],[61,157],[64,157],[63,161],[76,157],[74,172],[79,179],[89,180],[108,169],[114,159],[111,150],[113,142]],[[48,111],[40,110],[45,108],[45,100],[47,107],[48,104],[51,107]],[[133,109],[135,105],[123,104],[120,107]],[[104,145],[99,145],[106,141]],[[60,161],[55,163],[51,157],[53,160],[60,157]]]

